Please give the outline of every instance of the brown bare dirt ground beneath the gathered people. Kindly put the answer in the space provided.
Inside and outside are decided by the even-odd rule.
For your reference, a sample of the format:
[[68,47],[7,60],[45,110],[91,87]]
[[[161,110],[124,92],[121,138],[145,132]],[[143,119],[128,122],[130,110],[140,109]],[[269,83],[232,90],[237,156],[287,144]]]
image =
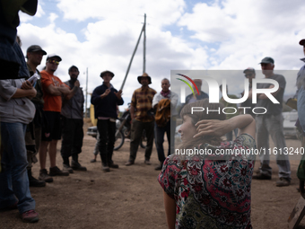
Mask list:
[[[296,139],[286,139],[286,144],[301,147]],[[59,142],[57,165],[61,168],[60,145]],[[127,167],[124,163],[128,160],[129,142],[126,141],[113,156],[119,168],[105,173],[101,171],[99,157],[97,163],[90,163],[94,145],[93,137],[84,137],[80,163],[87,167],[87,172],[55,177],[54,182],[44,188],[30,188],[40,216],[37,224],[22,223],[18,211],[12,210],[0,212],[0,228],[166,228],[162,190],[157,181],[159,172],[154,171],[158,165],[155,146],[152,165],[144,164],[144,149],[139,148],[135,165]],[[288,217],[300,198],[296,189],[299,185],[296,177],[298,164],[297,160],[291,161],[292,185],[289,187],[275,187],[278,169],[274,160],[271,162],[271,181],[252,181],[251,220],[254,228],[288,228]],[[257,162],[256,170],[258,165]],[[33,172],[38,177],[38,163]],[[305,228],[305,219],[298,228]]]

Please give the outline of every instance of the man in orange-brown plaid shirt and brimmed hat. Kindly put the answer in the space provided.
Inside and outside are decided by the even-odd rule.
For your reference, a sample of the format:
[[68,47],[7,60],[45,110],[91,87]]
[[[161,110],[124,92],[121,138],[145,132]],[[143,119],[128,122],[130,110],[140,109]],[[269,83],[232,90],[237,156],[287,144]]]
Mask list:
[[135,90],[130,104],[130,116],[132,119],[130,136],[130,155],[126,166],[135,163],[136,152],[145,130],[147,145],[145,148],[145,164],[151,164],[150,159],[153,151],[153,127],[154,117],[148,111],[152,109],[153,96],[157,93],[148,84],[152,84],[151,76],[144,73],[137,77],[142,87]]

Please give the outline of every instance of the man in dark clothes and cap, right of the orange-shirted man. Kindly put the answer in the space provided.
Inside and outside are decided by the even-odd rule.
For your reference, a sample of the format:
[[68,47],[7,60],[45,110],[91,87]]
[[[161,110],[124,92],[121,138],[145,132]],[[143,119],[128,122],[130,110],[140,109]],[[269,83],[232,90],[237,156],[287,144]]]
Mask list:
[[[63,157],[63,170],[73,173],[76,171],[87,171],[78,162],[78,154],[82,153],[83,146],[83,89],[74,85],[80,74],[77,66],[71,66],[68,70],[70,80],[65,82],[71,89],[72,93],[63,96],[63,105],[61,109],[62,124],[62,145],[61,156]],[[71,167],[69,157],[72,156]]]

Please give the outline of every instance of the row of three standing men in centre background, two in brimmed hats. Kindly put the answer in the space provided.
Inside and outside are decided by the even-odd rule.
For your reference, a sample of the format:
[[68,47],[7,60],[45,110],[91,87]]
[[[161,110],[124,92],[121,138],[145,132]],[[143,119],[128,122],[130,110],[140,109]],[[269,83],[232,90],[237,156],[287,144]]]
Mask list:
[[[112,154],[115,143],[116,119],[118,119],[118,106],[124,103],[122,91],[117,91],[110,81],[114,74],[110,71],[104,71],[100,74],[103,84],[95,88],[92,92],[92,104],[94,105],[94,116],[98,119],[98,144],[102,170],[109,172],[110,168],[118,168],[118,164],[113,163]],[[161,170],[165,161],[164,154],[164,134],[167,134],[169,142],[169,151],[174,149],[174,137],[170,131],[174,132],[176,127],[176,117],[178,112],[176,106],[178,94],[170,91],[170,81],[166,78],[161,80],[161,92],[156,92],[149,87],[152,84],[151,76],[144,73],[137,77],[139,84],[142,86],[135,90],[130,104],[131,116],[131,136],[130,136],[130,155],[126,166],[135,163],[135,157],[140,145],[143,131],[147,138],[145,145],[144,163],[150,165],[150,159],[153,152],[153,138],[158,151],[160,164],[155,168]],[[156,111],[154,111],[156,110]],[[170,110],[174,110],[170,114]],[[158,114],[160,115],[158,116]],[[159,119],[155,117],[160,117]],[[96,153],[92,163],[96,162]]]

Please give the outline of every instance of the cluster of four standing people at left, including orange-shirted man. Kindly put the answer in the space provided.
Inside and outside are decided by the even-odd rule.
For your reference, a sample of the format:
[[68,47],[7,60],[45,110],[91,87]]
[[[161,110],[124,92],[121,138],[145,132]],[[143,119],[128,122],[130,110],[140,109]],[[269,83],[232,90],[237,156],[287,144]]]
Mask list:
[[[17,50],[21,49],[14,42]],[[22,52],[21,52],[22,55]],[[31,187],[44,187],[54,176],[86,171],[78,161],[83,146],[83,90],[77,80],[78,68],[68,69],[70,80],[63,83],[55,74],[62,58],[47,57],[38,45],[27,48],[27,62],[21,56],[20,79],[0,80],[0,117],[3,172],[0,173],[0,208],[18,208],[24,222],[37,222]],[[23,60],[23,61],[22,61]],[[57,167],[57,141],[62,139],[63,170]],[[47,171],[47,153],[49,171]],[[39,154],[39,179],[31,171]],[[70,163],[70,157],[71,163]]]

